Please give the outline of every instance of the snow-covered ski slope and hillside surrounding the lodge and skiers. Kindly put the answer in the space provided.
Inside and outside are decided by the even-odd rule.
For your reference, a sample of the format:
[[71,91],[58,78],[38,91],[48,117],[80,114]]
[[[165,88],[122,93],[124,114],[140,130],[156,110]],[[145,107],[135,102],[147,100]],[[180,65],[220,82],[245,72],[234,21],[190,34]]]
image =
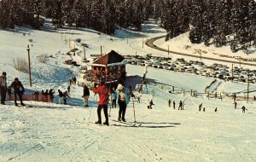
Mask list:
[[[50,88],[55,92],[66,90],[69,78],[76,76],[83,80],[79,67],[63,64],[71,57],[79,65],[84,64],[81,43],[88,44],[86,58],[100,54],[101,46],[102,53],[113,49],[121,55],[166,56],[166,52],[143,44],[146,39],[165,33],[153,23],[143,25],[143,32],[119,30],[114,36],[89,29],[53,30],[51,26],[45,26],[43,31],[20,27],[16,32],[0,30],[0,72],[7,72],[8,84],[15,77],[20,78],[26,93]],[[75,41],[78,38],[80,43]],[[186,42],[184,35],[168,43],[158,40],[156,45],[167,48],[166,44],[170,44],[179,51],[179,41]],[[32,87],[28,73],[16,71],[13,65],[14,58],[27,59],[27,44],[32,59]],[[79,49],[76,55],[65,55],[73,48]],[[39,55],[48,55],[49,61],[40,63]],[[172,60],[180,57],[170,56]],[[131,84],[135,88],[144,67],[128,64],[126,71],[126,86]],[[116,121],[119,109],[113,108],[108,111],[110,126],[94,124],[98,96],[90,91],[90,107],[83,107],[82,88],[75,85],[66,106],[58,104],[57,96],[55,103],[24,101],[31,107],[15,107],[13,101],[7,101],[6,106],[0,105],[0,161],[256,161],[254,101],[237,101],[235,109],[230,97],[223,96],[221,100],[208,99],[206,94],[190,95],[190,90],[204,93],[214,78],[153,67],[148,67],[147,78],[149,83],[143,94],[135,90],[136,97],[141,96],[141,103],[134,101],[135,126],[132,101],[127,107],[126,123]],[[176,91],[171,94],[172,86]],[[180,92],[181,89],[186,93]],[[255,84],[250,84],[250,89],[255,90]],[[220,79],[210,87],[212,93],[243,95],[246,90],[246,83]],[[175,109],[173,105],[168,107],[169,99],[176,102]],[[147,108],[150,100],[154,101],[153,109]],[[177,110],[179,101],[184,102],[182,111]],[[205,112],[199,112],[200,103]],[[247,107],[246,113],[241,113],[243,105]],[[214,112],[216,107],[218,110]]]

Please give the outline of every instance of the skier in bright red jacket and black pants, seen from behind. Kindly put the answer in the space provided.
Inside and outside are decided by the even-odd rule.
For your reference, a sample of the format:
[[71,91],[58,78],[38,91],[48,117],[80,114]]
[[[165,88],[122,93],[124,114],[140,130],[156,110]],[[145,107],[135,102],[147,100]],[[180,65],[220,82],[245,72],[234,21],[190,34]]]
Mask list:
[[98,108],[97,108],[97,115],[98,115],[98,121],[96,121],[96,124],[102,124],[102,108],[105,115],[105,122],[103,124],[109,125],[108,123],[108,96],[110,94],[110,91],[108,89],[108,86],[105,84],[104,81],[101,82],[101,84],[98,87],[95,87],[93,89],[93,92],[95,94],[99,94],[100,100],[98,102]]

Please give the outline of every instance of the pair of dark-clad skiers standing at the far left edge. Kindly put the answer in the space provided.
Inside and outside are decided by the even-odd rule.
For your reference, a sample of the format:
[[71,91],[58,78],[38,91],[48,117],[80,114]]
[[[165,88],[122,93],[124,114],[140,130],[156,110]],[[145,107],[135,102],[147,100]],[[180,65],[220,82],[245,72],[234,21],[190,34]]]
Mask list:
[[6,76],[7,76],[6,72],[2,72],[2,75],[0,76],[1,104],[5,105],[6,94],[8,92],[8,95],[11,95],[12,89],[13,89],[14,95],[15,95],[15,106],[18,107],[17,95],[20,98],[20,105],[26,106],[22,101],[22,95],[24,94],[25,89],[24,89],[23,85],[21,84],[19,78],[15,78],[15,80],[9,86],[7,86],[7,77]]

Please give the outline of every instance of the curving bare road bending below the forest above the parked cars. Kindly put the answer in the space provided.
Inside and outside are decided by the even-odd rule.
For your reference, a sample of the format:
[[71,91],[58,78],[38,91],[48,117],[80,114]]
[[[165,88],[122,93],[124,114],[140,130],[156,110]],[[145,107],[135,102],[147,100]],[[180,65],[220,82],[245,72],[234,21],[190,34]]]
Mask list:
[[[148,47],[151,47],[153,49],[158,49],[164,52],[168,52],[167,49],[161,49],[160,47],[154,45],[154,41],[160,38],[165,38],[166,36],[160,36],[160,37],[156,37],[156,38],[150,38],[148,40],[146,40],[145,44]],[[172,51],[169,50],[169,53],[172,54],[176,54],[176,55],[184,55],[184,56],[189,56],[189,57],[194,57],[194,58],[199,58],[199,59],[207,59],[207,60],[211,60],[211,61],[221,61],[221,62],[229,62],[229,63],[234,63],[234,64],[241,64],[241,65],[247,65],[247,66],[256,66],[256,63],[248,63],[248,62],[244,62],[244,61],[228,61],[228,60],[224,60],[224,59],[217,59],[217,58],[212,58],[212,57],[206,57],[206,56],[201,56],[201,55],[190,55],[190,54],[184,54],[184,53],[180,53],[180,52],[176,52],[176,51]]]

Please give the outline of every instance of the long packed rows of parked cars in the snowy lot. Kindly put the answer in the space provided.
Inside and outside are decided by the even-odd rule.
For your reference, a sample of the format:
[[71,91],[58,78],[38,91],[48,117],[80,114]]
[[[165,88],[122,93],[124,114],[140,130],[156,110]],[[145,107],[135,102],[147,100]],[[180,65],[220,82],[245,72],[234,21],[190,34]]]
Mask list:
[[[223,64],[214,63],[211,66],[205,65],[202,61],[185,61],[183,58],[172,60],[171,57],[160,57],[153,55],[138,56],[125,55],[128,64],[137,66],[148,66],[166,69],[174,72],[187,72],[212,78],[220,78],[226,81],[233,80],[254,84],[256,82],[256,70],[234,67],[231,69]],[[248,80],[249,76],[249,80]]]

